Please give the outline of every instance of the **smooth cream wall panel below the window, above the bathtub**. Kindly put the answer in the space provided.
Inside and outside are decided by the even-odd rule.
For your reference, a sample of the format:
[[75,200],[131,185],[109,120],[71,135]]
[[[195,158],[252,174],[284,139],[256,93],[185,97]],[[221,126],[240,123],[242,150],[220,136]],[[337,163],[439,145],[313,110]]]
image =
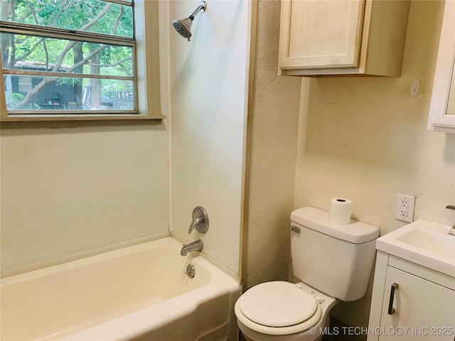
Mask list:
[[167,234],[166,135],[164,124],[2,129],[2,271]]

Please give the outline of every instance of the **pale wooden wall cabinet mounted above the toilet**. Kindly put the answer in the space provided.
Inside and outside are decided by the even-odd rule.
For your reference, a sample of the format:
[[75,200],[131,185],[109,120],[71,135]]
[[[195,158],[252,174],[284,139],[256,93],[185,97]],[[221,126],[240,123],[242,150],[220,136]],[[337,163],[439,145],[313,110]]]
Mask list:
[[400,76],[409,7],[409,0],[282,0],[279,73]]

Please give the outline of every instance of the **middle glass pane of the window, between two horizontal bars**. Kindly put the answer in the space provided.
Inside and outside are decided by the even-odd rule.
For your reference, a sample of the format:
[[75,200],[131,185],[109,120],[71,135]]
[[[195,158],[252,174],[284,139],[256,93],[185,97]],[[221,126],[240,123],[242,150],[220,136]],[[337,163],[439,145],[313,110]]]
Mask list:
[[[129,46],[0,33],[4,69],[132,76]],[[6,48],[4,44],[8,44]]]

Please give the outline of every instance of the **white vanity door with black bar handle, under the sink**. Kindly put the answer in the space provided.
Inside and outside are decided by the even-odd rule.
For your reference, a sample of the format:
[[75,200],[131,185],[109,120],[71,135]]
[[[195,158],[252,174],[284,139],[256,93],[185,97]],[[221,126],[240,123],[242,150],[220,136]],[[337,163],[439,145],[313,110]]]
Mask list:
[[[393,283],[397,283],[398,288],[393,298],[395,312],[389,315]],[[454,328],[455,291],[391,266],[387,267],[381,315],[381,330],[384,335],[379,337],[380,341],[454,341]],[[403,335],[397,335],[400,332]]]

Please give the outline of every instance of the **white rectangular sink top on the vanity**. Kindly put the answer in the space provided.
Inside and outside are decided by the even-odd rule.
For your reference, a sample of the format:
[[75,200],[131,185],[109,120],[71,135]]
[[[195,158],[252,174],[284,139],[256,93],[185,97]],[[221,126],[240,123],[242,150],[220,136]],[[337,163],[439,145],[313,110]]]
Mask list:
[[455,277],[455,236],[449,229],[417,220],[380,237],[376,249]]

